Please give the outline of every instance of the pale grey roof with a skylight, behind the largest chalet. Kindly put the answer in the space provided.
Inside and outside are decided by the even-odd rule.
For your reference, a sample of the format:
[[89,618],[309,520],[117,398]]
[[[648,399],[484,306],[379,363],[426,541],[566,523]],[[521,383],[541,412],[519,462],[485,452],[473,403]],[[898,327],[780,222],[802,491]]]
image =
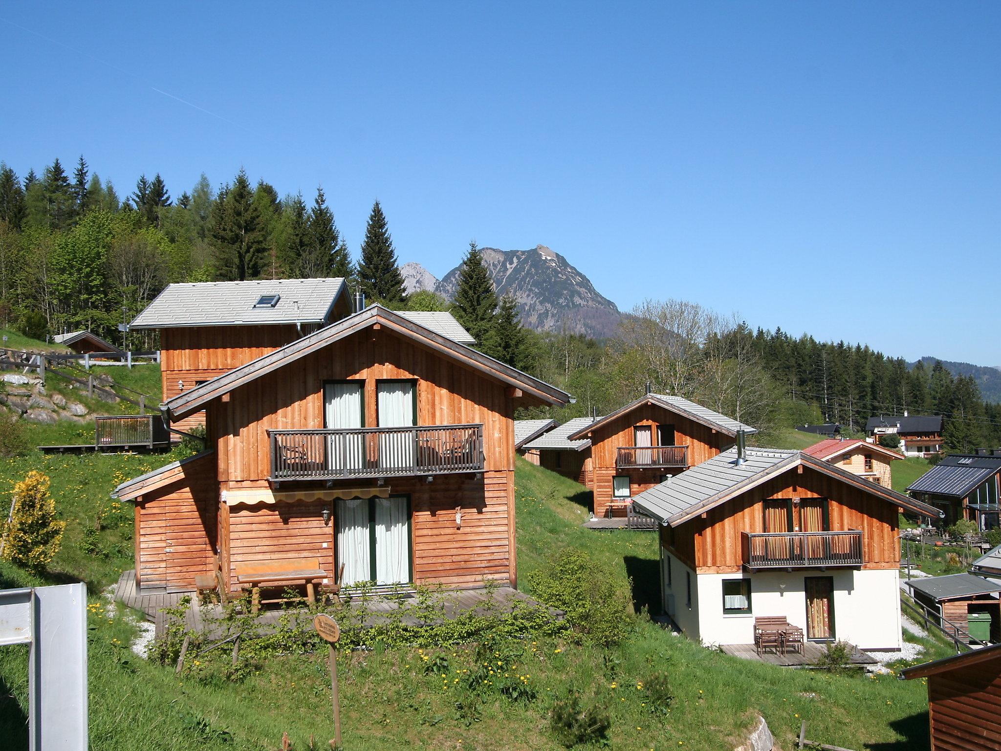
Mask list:
[[[344,286],[341,278],[168,284],[129,327],[322,322]],[[254,307],[265,294],[279,295],[277,304]]]

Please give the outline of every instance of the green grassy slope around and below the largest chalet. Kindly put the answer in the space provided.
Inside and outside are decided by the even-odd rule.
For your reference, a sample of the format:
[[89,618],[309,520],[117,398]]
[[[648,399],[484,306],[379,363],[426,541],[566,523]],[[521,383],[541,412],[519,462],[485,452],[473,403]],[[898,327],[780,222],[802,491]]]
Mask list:
[[[130,477],[170,457],[50,457],[32,455],[5,463],[0,474],[18,477],[36,466],[53,477],[53,493],[70,523],[63,550],[47,581],[79,577],[95,586],[131,568],[130,515],[102,530],[107,557],[79,550],[81,530],[109,502],[119,476]],[[632,588],[634,609],[659,604],[656,535],[593,532],[584,488],[519,460],[517,469],[519,572],[523,587],[552,553],[573,547],[623,587]],[[10,566],[5,584],[40,583]],[[630,582],[630,579],[632,582]],[[172,668],[136,658],[124,646],[134,628],[115,606],[93,599],[90,615],[90,734],[100,751],[193,747],[277,748],[288,732],[293,748],[317,747],[332,737],[329,682],[321,653],[270,657],[230,683],[206,665],[180,677]],[[767,719],[781,748],[792,748],[801,719],[810,737],[848,748],[880,744],[883,751],[927,748],[927,702],[920,681],[894,676],[839,676],[796,671],[728,657],[663,630],[646,618],[617,647],[603,650],[557,639],[526,639],[504,649],[503,669],[527,676],[533,697],[512,700],[486,692],[473,700],[455,678],[476,661],[468,646],[425,650],[397,648],[355,652],[339,662],[344,747],[376,749],[559,748],[548,715],[557,697],[579,694],[612,719],[615,749],[733,748],[755,722]],[[210,653],[211,655],[211,653]],[[440,657],[442,678],[423,666]],[[217,666],[228,661],[218,658]],[[445,665],[438,661],[436,664]],[[25,657],[0,650],[0,735],[5,748],[23,748]],[[458,671],[458,672],[456,672]],[[647,686],[667,675],[673,699],[653,702]],[[452,678],[452,676],[455,678]],[[639,686],[639,687],[638,687]]]

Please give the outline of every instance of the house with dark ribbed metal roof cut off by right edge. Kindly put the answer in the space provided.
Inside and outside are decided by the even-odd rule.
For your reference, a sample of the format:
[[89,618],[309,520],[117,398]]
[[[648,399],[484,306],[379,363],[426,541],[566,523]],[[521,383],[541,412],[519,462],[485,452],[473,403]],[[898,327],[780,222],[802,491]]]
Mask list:
[[998,522],[1001,455],[950,454],[918,478],[907,492],[945,513],[944,524],[975,521],[981,530]]

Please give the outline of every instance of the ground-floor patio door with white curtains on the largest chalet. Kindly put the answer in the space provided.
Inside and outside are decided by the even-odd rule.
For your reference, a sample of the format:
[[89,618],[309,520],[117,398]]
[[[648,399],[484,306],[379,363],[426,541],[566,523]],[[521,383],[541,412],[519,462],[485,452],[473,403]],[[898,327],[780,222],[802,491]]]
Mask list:
[[376,586],[410,581],[410,501],[405,496],[338,499],[336,567],[345,587],[359,582]]

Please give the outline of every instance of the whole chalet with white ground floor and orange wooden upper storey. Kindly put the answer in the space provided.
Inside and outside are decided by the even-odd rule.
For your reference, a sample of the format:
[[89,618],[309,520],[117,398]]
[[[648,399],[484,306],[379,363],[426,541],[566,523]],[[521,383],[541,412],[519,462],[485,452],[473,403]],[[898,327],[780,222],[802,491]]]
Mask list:
[[798,451],[743,449],[633,500],[661,522],[665,610],[707,644],[756,644],[785,619],[806,640],[901,648],[899,510],[937,511]]

